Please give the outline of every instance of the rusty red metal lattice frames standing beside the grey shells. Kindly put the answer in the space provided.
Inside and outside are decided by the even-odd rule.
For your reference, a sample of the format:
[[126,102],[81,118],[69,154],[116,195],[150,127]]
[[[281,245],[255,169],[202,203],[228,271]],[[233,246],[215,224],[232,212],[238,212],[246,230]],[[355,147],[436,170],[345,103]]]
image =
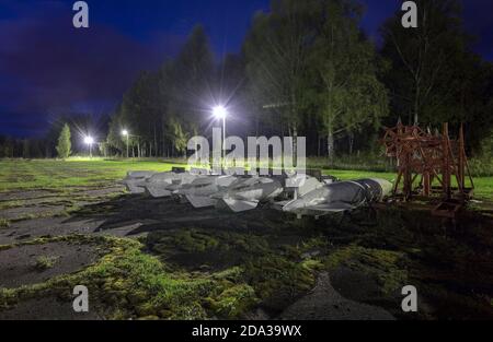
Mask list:
[[[448,123],[443,132],[432,133],[419,126],[386,129],[381,140],[386,154],[397,161],[398,176],[393,192],[405,200],[440,193],[445,201],[466,201],[472,196],[474,184],[469,170],[463,127],[457,140],[450,140]],[[454,181],[455,178],[455,181]],[[467,187],[466,179],[470,187]]]

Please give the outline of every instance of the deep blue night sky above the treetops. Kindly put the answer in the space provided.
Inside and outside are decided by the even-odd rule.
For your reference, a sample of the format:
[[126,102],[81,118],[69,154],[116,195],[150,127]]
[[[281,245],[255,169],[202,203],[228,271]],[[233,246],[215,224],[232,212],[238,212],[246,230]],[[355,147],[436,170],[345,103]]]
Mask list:
[[[270,0],[87,0],[89,30],[73,28],[73,2],[0,0],[0,134],[43,137],[58,115],[110,113],[138,71],[174,56],[198,23],[217,59],[238,52]],[[363,2],[363,26],[379,42],[400,1]],[[474,49],[493,61],[493,1],[465,1],[465,20],[480,37]]]

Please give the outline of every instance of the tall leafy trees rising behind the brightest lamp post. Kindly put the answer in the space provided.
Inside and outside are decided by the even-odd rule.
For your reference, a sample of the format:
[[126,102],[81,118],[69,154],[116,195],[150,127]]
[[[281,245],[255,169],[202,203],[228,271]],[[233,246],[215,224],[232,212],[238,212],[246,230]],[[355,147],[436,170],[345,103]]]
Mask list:
[[182,156],[191,137],[211,134],[218,104],[231,113],[228,135],[303,135],[309,155],[331,160],[378,149],[382,127],[399,119],[431,130],[465,123],[479,153],[493,128],[492,63],[472,51],[458,1],[416,3],[419,27],[404,28],[397,11],[377,45],[358,1],[273,0],[241,52],[219,62],[196,26],[175,58],[124,94],[101,153],[124,156],[126,129],[130,156]]

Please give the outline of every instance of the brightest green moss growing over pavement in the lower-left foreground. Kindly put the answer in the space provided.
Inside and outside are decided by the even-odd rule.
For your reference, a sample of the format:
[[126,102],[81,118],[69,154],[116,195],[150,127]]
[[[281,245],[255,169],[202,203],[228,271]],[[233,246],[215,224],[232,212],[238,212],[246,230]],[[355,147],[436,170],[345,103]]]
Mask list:
[[[240,282],[241,269],[233,268],[213,274],[169,272],[157,257],[142,251],[133,239],[110,236],[73,235],[38,238],[16,245],[41,245],[67,240],[73,244],[98,244],[103,251],[93,266],[74,274],[61,275],[42,284],[0,291],[0,309],[34,297],[67,293],[77,284],[88,284],[93,303],[108,308],[110,319],[158,317],[163,319],[206,319],[239,316],[255,303],[255,294]],[[53,261],[43,259],[43,266]],[[237,285],[240,285],[237,287]],[[229,288],[233,288],[228,291]],[[204,300],[210,298],[210,306]]]

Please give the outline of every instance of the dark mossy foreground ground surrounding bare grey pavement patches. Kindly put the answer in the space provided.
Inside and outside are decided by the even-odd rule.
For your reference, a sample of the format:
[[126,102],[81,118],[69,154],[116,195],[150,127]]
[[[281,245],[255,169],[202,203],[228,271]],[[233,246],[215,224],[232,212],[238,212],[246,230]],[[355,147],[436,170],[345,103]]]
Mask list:
[[[379,213],[372,226],[356,216],[293,220],[282,228],[266,222],[264,231],[202,225],[154,231],[138,240],[73,235],[0,246],[70,241],[94,244],[101,255],[74,274],[1,290],[0,310],[48,295],[70,298],[73,286],[85,284],[108,319],[237,319],[257,307],[276,317],[313,287],[319,271],[344,267],[375,279],[378,297],[368,304],[400,318],[493,317],[493,239],[483,222],[461,232],[395,210]],[[409,284],[426,304],[413,317],[399,312],[399,292]]]

